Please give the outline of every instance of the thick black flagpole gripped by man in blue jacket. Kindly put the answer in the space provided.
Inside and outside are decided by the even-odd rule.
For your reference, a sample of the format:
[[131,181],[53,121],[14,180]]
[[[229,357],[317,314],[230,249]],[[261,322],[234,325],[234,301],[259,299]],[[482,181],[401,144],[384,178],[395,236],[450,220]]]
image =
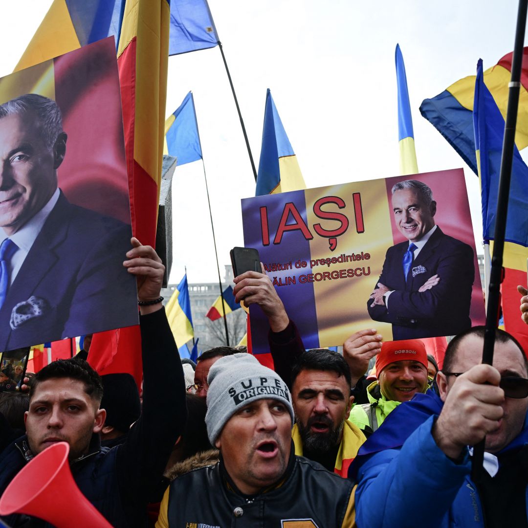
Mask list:
[[[495,331],[498,323],[499,304],[501,300],[501,282],[503,279],[502,257],[504,252],[504,237],[506,233],[506,216],[508,213],[508,197],[510,196],[510,181],[512,176],[513,149],[515,145],[515,126],[517,124],[517,109],[521,88],[521,68],[523,60],[524,31],[526,27],[526,8],[528,0],[520,0],[517,11],[517,27],[515,29],[515,46],[512,59],[512,77],[508,83],[508,108],[504,127],[504,142],[502,146],[501,174],[499,176],[497,213],[495,220],[495,236],[493,243],[492,269],[489,276],[488,303],[486,308],[486,329],[482,362],[493,364],[493,349],[495,346]],[[486,439],[480,441],[473,450],[472,479],[478,484],[482,478],[484,447]]]

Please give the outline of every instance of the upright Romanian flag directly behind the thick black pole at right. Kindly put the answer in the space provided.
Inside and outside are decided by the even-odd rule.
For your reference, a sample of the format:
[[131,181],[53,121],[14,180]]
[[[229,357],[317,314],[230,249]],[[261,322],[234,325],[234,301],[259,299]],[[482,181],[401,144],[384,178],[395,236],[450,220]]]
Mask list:
[[[478,61],[475,82],[474,126],[477,166],[482,188],[483,238],[493,241],[499,173],[501,169],[504,119],[484,84],[482,60]],[[503,253],[504,280],[501,285],[504,329],[515,335],[528,350],[528,327],[519,313],[516,286],[526,284],[528,258],[528,167],[514,148],[510,199]],[[493,243],[493,242],[492,242]]]

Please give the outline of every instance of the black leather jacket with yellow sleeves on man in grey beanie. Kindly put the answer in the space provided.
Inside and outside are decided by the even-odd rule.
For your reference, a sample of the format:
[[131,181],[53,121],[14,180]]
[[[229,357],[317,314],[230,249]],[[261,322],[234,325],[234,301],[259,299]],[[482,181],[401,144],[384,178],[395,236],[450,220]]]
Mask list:
[[284,477],[243,495],[222,460],[173,480],[156,528],[351,528],[354,483],[291,450]]

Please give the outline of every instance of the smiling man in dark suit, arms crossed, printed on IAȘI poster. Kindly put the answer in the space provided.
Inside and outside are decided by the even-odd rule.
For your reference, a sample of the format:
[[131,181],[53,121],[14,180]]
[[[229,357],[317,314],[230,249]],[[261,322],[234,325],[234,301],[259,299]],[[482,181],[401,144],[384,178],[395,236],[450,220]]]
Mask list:
[[435,225],[432,191],[417,180],[392,187],[398,230],[367,302],[372,319],[392,323],[394,340],[456,335],[471,326],[473,249]]

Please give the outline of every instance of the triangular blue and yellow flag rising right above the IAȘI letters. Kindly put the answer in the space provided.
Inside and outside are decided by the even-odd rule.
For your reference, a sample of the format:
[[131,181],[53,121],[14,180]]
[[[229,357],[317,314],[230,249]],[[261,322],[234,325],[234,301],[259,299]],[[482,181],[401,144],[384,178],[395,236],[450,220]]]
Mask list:
[[268,88],[255,196],[298,191],[304,188],[306,184],[297,157],[291,148]]

